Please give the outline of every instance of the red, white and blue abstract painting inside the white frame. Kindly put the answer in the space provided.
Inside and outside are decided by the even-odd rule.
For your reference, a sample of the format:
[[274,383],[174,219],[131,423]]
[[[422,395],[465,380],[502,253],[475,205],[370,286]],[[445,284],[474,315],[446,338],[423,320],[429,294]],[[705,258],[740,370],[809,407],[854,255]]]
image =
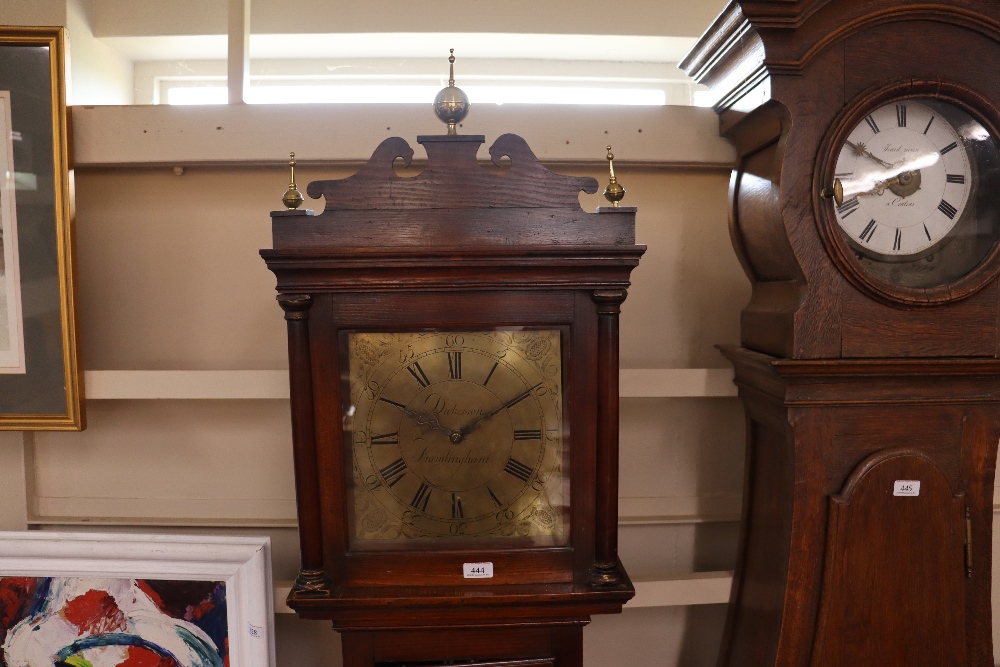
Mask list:
[[0,577],[0,667],[229,667],[226,583]]

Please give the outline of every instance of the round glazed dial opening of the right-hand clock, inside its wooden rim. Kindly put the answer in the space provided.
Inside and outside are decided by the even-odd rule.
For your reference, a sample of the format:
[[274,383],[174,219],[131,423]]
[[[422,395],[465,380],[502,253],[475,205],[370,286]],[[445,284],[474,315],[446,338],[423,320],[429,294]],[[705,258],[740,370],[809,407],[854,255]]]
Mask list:
[[989,195],[1000,149],[986,125],[956,102],[911,95],[860,107],[838,136],[820,198],[846,268],[890,301],[974,291],[956,287],[1000,241]]

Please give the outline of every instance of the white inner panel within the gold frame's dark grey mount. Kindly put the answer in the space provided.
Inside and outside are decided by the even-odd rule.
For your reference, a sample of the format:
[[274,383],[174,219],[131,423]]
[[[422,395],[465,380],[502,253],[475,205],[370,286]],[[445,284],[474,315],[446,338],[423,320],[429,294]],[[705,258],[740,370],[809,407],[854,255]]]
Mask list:
[[26,372],[10,91],[0,90],[0,373]]

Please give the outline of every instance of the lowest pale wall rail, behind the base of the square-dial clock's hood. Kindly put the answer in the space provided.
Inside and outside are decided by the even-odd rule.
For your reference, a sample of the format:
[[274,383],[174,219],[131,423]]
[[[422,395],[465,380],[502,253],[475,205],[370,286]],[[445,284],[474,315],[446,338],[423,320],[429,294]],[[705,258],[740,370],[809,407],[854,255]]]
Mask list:
[[[664,579],[633,581],[635,597],[625,606],[629,609],[643,607],[681,607],[696,604],[726,604],[733,585],[733,573],[691,572]],[[292,582],[278,581],[274,585],[274,611],[276,614],[295,613],[285,604]]]

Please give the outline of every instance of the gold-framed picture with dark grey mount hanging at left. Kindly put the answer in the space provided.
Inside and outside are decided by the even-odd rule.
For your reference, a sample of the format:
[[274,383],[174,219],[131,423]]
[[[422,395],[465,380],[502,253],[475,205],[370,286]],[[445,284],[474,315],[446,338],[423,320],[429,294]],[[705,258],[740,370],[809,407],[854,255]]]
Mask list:
[[0,429],[79,430],[61,28],[0,27]]

